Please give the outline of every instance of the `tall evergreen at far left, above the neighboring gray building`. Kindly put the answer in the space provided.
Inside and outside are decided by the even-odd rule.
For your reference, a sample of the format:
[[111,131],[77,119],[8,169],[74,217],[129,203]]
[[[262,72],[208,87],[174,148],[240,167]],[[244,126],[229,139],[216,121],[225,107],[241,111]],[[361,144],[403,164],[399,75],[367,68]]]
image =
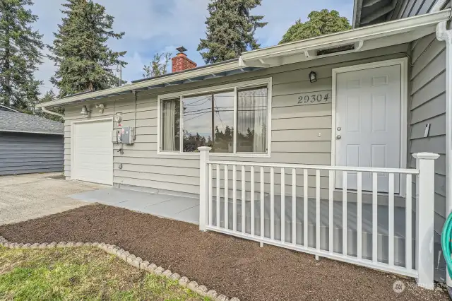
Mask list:
[[0,0],[0,105],[28,112],[37,100],[40,81],[33,73],[41,64],[42,35],[33,30],[37,16],[31,0]]

